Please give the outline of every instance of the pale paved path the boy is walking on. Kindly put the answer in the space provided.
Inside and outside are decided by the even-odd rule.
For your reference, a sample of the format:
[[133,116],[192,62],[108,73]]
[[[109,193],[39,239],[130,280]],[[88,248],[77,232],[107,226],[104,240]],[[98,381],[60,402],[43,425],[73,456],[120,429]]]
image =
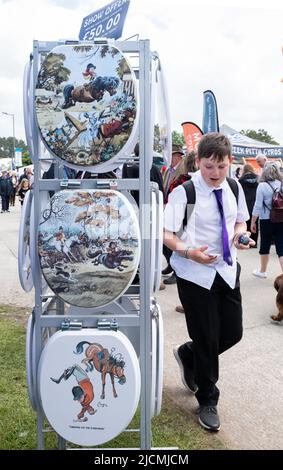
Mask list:
[[[18,281],[17,234],[20,207],[0,214],[0,303],[33,306],[34,293]],[[256,249],[241,252],[244,337],[220,359],[222,428],[219,437],[230,449],[283,449],[283,322],[274,324],[273,280],[279,263],[272,248],[268,279],[251,275],[258,266]],[[176,286],[158,293],[165,321],[164,383],[168,394],[196,419],[196,400],[181,384],[172,347],[187,340],[184,315],[175,312]]]

